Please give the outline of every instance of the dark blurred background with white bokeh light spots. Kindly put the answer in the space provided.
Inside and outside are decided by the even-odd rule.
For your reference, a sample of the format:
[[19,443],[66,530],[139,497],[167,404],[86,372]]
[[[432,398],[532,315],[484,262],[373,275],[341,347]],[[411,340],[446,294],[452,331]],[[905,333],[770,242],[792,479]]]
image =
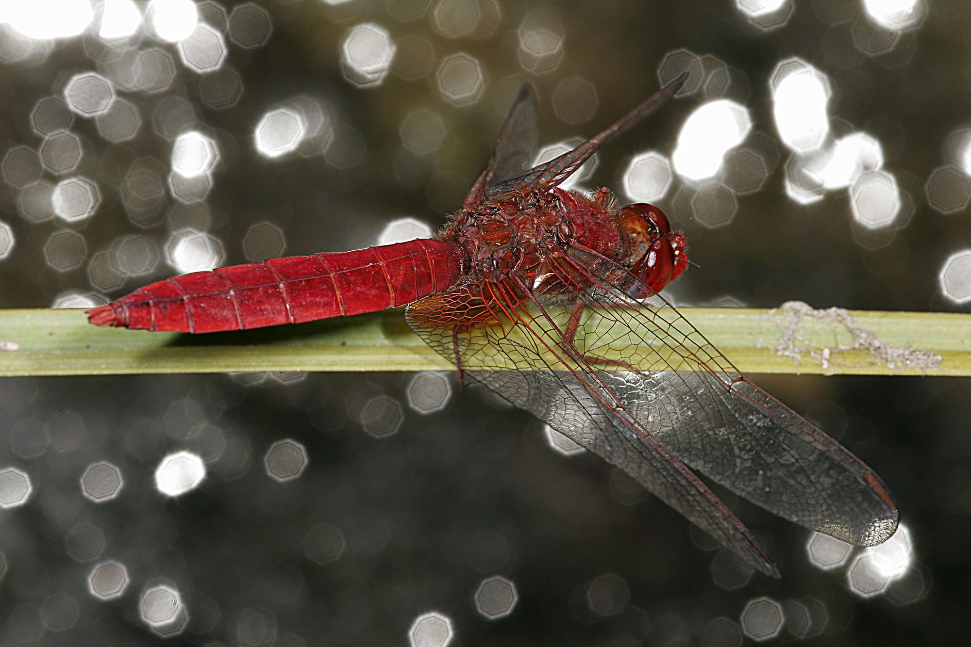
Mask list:
[[[672,299],[967,311],[969,32],[959,0],[7,0],[0,306],[427,235],[519,83],[567,146],[687,69],[579,182],[685,231]],[[882,475],[902,573],[729,497],[753,574],[452,373],[2,379],[0,643],[963,639],[968,381],[755,377]]]

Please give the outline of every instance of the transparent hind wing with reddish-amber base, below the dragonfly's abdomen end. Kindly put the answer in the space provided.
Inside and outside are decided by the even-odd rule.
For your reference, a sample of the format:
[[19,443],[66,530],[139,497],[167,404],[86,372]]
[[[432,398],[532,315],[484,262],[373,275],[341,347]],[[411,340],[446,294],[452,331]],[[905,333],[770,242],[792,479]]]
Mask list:
[[631,415],[625,401],[639,379],[599,371],[564,350],[570,312],[560,297],[569,295],[546,295],[541,305],[514,297],[515,291],[502,284],[459,286],[412,304],[408,322],[463,374],[623,469],[753,568],[778,577],[753,534],[653,436],[653,422]]

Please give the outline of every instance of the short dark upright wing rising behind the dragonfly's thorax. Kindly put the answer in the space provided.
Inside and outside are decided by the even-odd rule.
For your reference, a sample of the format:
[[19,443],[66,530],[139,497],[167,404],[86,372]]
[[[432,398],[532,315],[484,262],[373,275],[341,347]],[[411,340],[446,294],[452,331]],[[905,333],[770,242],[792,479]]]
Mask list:
[[536,109],[536,95],[528,84],[523,83],[499,129],[485,171],[469,190],[464,207],[469,209],[478,205],[496,181],[521,173],[532,159],[538,144],[539,112]]

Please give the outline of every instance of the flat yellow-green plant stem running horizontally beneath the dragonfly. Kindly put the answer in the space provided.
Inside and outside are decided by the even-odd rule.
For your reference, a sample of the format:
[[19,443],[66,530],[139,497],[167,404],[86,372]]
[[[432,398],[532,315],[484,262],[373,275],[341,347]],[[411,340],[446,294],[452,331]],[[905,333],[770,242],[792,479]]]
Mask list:
[[[794,345],[780,354],[776,345],[792,322],[785,310],[680,309],[746,373],[971,374],[969,314],[849,312],[859,329],[904,353],[887,360],[872,347],[854,347],[833,319],[803,317],[790,331]],[[911,363],[907,349],[924,351],[924,359]],[[0,310],[0,375],[453,369],[408,328],[400,309],[195,336],[97,328],[79,309]]]

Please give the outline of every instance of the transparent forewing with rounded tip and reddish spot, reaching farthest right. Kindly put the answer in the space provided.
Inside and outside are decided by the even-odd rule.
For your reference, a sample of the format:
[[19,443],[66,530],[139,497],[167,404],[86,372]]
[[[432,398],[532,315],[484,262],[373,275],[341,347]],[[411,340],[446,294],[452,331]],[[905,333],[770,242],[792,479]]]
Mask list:
[[570,262],[592,283],[580,352],[637,370],[621,400],[688,466],[843,541],[872,546],[896,531],[896,503],[872,469],[743,377],[662,297],[628,297],[646,289],[635,276],[592,253]]

